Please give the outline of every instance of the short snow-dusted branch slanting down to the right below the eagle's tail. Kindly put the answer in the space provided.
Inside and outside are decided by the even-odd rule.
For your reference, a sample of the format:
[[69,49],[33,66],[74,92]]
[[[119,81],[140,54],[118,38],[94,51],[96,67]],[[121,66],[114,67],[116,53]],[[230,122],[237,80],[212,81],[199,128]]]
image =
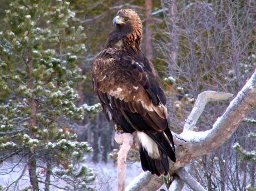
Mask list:
[[184,168],[178,169],[176,173],[194,191],[206,191]]

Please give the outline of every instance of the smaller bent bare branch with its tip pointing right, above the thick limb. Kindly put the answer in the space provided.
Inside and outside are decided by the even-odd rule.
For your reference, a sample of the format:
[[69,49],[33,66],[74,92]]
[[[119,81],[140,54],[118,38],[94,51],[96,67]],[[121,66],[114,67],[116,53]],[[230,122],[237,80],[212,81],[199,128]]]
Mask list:
[[200,93],[198,95],[198,98],[196,99],[195,105],[194,105],[188,119],[186,120],[183,130],[193,130],[200,115],[204,111],[205,105],[208,102],[225,100],[232,96],[233,96],[233,94],[231,94],[231,93],[215,92],[215,91],[205,91],[203,93]]

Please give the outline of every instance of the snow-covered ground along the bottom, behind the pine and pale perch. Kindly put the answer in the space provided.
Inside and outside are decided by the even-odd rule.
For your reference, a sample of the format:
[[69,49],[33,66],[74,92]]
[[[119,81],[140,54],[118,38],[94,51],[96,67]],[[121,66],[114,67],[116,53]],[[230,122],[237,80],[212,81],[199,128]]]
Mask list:
[[[9,172],[11,168],[13,167],[13,164],[16,161],[12,162],[3,162],[0,166],[0,185],[3,187],[6,187],[7,185],[11,184],[15,180],[19,178],[21,175],[24,164],[19,164],[15,168],[13,168],[13,172],[9,174],[3,174],[4,171]],[[117,190],[117,167],[114,163],[92,163],[92,162],[86,162],[85,163],[88,167],[93,169],[93,172],[97,175],[97,178],[95,180],[95,183],[91,185],[92,187],[95,187],[97,190],[101,191],[111,191],[111,190]],[[137,175],[139,175],[142,172],[141,164],[139,162],[136,163],[128,163],[127,169],[126,169],[126,185],[131,182],[132,179],[134,179]],[[40,172],[38,172],[40,173]],[[63,185],[63,182],[58,182],[56,185]],[[29,177],[28,177],[28,171],[26,170],[23,178],[18,181],[16,184],[16,188],[11,188],[9,190],[19,190],[27,187],[29,185]],[[13,184],[14,186],[14,184]],[[43,185],[40,185],[41,188],[43,188]],[[19,189],[18,189],[19,188]],[[57,189],[54,187],[51,187],[52,191],[59,191],[61,189]]]

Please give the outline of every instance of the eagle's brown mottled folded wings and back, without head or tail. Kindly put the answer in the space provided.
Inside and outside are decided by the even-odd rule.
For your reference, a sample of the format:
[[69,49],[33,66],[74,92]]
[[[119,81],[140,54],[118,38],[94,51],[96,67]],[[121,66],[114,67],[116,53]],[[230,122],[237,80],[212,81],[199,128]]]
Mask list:
[[166,98],[149,61],[135,62],[115,49],[106,54],[108,58],[96,59],[92,67],[94,91],[104,107],[119,111],[136,130],[165,130]]

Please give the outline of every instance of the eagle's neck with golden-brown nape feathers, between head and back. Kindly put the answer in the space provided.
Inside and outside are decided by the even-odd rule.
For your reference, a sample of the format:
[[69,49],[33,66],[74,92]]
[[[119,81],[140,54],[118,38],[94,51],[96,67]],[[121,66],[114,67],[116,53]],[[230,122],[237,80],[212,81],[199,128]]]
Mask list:
[[122,35],[120,33],[112,32],[107,39],[105,48],[112,47],[126,52],[141,53],[141,41],[141,33],[134,32]]

